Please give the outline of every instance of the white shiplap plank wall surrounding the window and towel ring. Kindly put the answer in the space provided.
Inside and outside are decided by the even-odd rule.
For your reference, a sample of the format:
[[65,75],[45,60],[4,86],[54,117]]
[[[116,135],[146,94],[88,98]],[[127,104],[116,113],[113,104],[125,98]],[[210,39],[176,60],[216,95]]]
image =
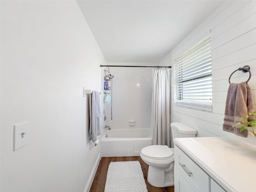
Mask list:
[[[210,32],[211,30],[211,32]],[[256,1],[224,1],[202,23],[180,42],[160,65],[174,59],[211,33],[213,111],[203,112],[174,105],[172,71],[172,122],[184,122],[198,131],[198,136],[233,136],[256,145],[254,136],[242,138],[222,131],[228,78],[244,65],[251,67],[248,82],[256,102]],[[172,68],[173,70],[173,68]],[[236,72],[232,82],[246,81],[248,73]]]

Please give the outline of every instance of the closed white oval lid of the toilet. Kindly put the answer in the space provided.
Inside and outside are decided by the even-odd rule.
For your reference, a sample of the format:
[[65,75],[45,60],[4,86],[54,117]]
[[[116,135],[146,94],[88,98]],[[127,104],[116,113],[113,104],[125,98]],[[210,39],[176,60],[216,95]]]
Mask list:
[[149,158],[166,159],[173,155],[172,150],[167,145],[151,145],[141,150],[144,156]]

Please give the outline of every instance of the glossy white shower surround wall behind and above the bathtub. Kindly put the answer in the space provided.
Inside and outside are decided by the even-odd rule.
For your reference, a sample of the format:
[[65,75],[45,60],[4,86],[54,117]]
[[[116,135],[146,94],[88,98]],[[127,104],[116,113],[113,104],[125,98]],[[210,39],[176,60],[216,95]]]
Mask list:
[[[154,66],[155,64],[108,63],[108,65]],[[104,124],[110,125],[113,129],[150,128],[152,70],[153,68],[110,67],[111,74],[115,76],[112,79],[113,119],[110,119],[111,105],[105,104],[107,120]],[[129,126],[129,120],[135,120],[135,126]]]

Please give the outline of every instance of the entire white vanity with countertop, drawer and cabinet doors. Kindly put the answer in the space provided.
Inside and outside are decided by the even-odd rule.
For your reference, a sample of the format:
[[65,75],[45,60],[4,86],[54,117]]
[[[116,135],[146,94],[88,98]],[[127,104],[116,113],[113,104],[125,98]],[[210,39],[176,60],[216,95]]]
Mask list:
[[174,139],[175,192],[256,192],[255,165],[256,146],[234,138]]

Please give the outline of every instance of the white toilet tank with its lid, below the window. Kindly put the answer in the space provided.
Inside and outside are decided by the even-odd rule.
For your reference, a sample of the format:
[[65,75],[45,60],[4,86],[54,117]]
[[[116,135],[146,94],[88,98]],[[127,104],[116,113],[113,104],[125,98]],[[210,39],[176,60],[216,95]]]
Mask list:
[[181,122],[171,123],[172,139],[184,137],[196,137],[196,130]]

